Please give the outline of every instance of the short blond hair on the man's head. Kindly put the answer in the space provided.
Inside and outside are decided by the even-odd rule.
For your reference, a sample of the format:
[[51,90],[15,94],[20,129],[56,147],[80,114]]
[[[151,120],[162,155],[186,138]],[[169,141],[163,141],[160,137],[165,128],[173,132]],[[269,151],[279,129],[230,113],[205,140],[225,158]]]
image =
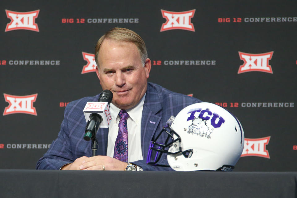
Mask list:
[[140,53],[140,58],[142,61],[142,64],[144,66],[145,60],[148,58],[148,52],[146,50],[146,46],[144,44],[143,39],[134,31],[126,29],[126,28],[112,28],[108,32],[106,32],[97,42],[95,47],[95,62],[97,63],[97,66],[99,67],[98,63],[98,54],[99,49],[101,47],[102,42],[105,38],[113,39],[117,41],[124,41],[124,42],[131,42],[134,43]]

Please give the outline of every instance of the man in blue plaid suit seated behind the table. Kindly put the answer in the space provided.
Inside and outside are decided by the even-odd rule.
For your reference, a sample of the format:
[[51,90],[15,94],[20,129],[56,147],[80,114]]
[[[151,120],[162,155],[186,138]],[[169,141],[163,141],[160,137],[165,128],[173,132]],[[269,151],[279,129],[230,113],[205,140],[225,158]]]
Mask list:
[[[97,156],[91,157],[91,141],[83,139],[83,109],[88,101],[97,101],[99,95],[67,105],[58,138],[39,159],[37,169],[172,170],[146,164],[149,143],[171,115],[200,100],[148,83],[151,60],[144,41],[131,30],[113,28],[106,32],[97,42],[95,61],[102,89],[113,93],[110,127],[100,128],[96,134]],[[123,128],[127,139],[118,140],[123,138]],[[166,163],[166,157],[161,161]]]

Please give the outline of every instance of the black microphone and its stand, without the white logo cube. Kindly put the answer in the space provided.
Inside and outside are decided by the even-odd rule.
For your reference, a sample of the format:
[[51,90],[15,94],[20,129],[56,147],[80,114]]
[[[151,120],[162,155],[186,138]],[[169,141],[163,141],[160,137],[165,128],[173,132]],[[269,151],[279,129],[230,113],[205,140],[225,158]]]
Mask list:
[[[110,90],[106,89],[100,93],[98,102],[107,102],[110,105],[112,101],[113,94]],[[84,134],[84,140],[89,141],[92,140],[91,149],[92,149],[92,156],[96,156],[98,142],[96,139],[96,133],[100,128],[100,124],[102,123],[101,115],[97,113],[90,114],[90,120],[86,125],[86,130]]]

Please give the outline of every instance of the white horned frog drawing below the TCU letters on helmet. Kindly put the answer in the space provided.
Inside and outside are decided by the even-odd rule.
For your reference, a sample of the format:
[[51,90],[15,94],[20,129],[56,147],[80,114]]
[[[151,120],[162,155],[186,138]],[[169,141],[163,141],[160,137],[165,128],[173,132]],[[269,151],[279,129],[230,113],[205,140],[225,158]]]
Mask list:
[[210,134],[213,132],[213,128],[210,129],[207,126],[207,123],[205,122],[206,120],[202,118],[194,118],[192,120],[192,125],[189,126],[189,134],[196,134],[197,136],[199,135],[200,137],[207,137],[210,138]]

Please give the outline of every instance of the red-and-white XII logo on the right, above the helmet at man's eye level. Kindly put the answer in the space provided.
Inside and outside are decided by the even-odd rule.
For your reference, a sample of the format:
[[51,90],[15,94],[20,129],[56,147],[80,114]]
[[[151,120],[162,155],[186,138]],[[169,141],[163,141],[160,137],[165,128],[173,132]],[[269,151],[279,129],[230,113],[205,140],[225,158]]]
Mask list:
[[248,71],[263,71],[272,74],[272,69],[268,62],[272,58],[273,51],[263,54],[238,53],[240,60],[244,61],[243,65],[239,67],[238,74]]

